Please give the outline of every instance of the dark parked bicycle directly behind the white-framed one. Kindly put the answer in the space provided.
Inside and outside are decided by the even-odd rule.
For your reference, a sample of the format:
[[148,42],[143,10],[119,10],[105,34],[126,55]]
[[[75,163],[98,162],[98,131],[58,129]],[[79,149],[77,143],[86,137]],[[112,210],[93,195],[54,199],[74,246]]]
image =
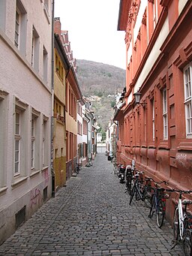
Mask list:
[[152,218],[155,213],[157,227],[162,227],[166,210],[166,198],[168,198],[169,195],[165,193],[165,188],[160,188],[159,185],[163,183],[166,185],[167,182],[155,182],[154,179],[152,180],[155,187],[152,188],[154,190],[154,193],[151,196],[151,208],[148,218]]

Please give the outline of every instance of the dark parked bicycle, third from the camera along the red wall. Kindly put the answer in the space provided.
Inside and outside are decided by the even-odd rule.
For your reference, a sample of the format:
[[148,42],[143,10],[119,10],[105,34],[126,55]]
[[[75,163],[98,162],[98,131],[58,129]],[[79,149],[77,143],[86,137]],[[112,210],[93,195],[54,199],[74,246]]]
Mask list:
[[[148,183],[143,184],[142,174],[143,172],[136,170],[136,174],[133,176],[135,181],[133,183],[133,188],[130,191],[129,204],[132,202],[135,195],[136,200],[142,200],[145,203],[145,206],[148,206],[147,195],[149,194],[149,190],[151,190],[151,186],[148,186]],[[140,179],[139,176],[141,176]]]

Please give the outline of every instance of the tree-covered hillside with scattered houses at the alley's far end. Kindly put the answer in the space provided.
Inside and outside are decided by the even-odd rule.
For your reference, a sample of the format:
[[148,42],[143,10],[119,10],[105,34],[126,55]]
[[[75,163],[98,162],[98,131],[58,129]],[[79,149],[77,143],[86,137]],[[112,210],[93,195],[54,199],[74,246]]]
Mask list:
[[92,108],[99,125],[105,130],[114,113],[115,92],[125,86],[125,70],[79,59],[77,79],[83,95],[92,101]]

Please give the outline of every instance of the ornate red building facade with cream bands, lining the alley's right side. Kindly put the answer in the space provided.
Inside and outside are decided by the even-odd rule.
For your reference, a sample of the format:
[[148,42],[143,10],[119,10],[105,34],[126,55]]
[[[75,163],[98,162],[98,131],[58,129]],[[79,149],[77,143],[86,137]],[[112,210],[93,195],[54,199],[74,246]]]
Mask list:
[[146,176],[179,189],[192,188],[191,17],[187,0],[121,0],[118,16],[127,50],[126,93],[114,116],[118,161],[134,159]]

